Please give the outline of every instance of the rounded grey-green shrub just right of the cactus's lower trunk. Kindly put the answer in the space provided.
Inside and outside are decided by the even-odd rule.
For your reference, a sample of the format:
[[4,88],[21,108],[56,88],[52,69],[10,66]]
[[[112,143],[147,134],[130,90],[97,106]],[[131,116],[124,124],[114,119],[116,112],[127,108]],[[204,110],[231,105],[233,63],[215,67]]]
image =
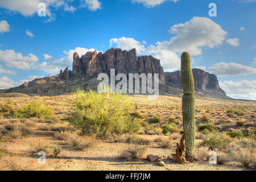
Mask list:
[[230,143],[230,139],[226,137],[224,134],[213,131],[207,135],[200,146],[209,147],[212,150],[223,150]]

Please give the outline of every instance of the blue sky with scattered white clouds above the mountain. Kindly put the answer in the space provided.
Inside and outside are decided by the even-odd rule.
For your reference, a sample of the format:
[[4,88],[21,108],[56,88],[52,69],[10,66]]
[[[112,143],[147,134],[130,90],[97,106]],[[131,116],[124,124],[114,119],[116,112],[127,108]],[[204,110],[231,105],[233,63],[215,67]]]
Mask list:
[[0,88],[72,69],[74,51],[137,48],[165,72],[189,51],[228,96],[256,100],[255,12],[256,0],[0,0]]

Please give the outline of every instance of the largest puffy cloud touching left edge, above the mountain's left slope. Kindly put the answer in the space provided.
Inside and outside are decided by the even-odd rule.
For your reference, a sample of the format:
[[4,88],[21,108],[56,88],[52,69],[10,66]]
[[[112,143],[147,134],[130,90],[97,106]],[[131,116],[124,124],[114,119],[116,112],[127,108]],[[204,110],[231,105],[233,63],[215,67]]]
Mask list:
[[5,62],[7,67],[23,70],[36,69],[36,64],[39,63],[38,57],[32,53],[23,56],[22,53],[9,49],[5,51],[0,50],[0,61]]

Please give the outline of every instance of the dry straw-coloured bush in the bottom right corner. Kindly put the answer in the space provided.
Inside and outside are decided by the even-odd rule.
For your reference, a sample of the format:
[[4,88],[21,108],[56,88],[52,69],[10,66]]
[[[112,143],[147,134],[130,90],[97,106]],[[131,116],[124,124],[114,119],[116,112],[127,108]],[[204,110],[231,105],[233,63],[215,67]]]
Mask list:
[[238,140],[228,148],[230,160],[244,167],[256,169],[256,147],[254,141]]

